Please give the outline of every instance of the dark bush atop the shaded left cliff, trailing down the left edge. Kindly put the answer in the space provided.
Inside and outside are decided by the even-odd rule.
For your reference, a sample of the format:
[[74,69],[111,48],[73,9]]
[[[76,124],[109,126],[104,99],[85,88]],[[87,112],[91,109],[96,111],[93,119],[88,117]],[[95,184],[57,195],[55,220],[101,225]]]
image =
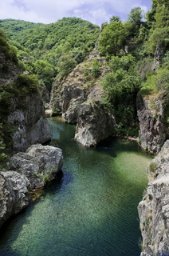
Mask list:
[[35,75],[19,74],[12,84],[0,86],[0,169],[4,167],[13,148],[12,135],[16,127],[8,122],[10,102],[17,98],[17,108],[25,105],[26,94],[37,93],[38,80]]

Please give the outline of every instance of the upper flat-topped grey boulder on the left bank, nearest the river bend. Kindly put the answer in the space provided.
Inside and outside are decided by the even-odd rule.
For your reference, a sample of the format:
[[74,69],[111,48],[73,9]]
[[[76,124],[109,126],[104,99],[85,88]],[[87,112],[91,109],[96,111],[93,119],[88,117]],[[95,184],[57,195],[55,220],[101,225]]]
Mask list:
[[32,145],[26,153],[19,152],[10,158],[10,170],[25,175],[31,189],[44,186],[55,178],[63,164],[62,150],[54,146]]

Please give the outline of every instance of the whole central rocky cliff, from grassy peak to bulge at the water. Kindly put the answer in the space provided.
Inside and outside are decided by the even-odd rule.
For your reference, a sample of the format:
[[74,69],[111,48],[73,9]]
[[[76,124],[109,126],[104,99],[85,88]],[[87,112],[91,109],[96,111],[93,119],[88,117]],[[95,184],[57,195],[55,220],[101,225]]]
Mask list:
[[[92,62],[100,63],[99,78],[92,77]],[[116,126],[112,114],[104,110],[101,103],[104,97],[98,81],[109,72],[93,50],[86,62],[79,64],[64,81],[57,78],[53,83],[51,106],[57,113],[62,113],[65,122],[77,124],[75,139],[85,146],[96,146],[107,138]]]

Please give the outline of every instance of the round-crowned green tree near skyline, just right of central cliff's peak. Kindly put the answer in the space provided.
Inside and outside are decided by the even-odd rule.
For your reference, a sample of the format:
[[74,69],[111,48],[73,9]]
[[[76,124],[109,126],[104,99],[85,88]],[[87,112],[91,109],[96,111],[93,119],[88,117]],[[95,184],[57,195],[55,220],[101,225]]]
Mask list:
[[111,22],[104,27],[99,38],[100,54],[106,57],[120,54],[124,46],[125,30],[122,22]]

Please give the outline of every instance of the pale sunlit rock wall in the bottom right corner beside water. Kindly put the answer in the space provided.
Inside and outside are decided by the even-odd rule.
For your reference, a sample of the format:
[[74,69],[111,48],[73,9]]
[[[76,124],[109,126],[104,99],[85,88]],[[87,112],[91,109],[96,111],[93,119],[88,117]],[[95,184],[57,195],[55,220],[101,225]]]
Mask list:
[[138,206],[143,237],[141,256],[169,255],[169,140],[152,160],[147,194]]

